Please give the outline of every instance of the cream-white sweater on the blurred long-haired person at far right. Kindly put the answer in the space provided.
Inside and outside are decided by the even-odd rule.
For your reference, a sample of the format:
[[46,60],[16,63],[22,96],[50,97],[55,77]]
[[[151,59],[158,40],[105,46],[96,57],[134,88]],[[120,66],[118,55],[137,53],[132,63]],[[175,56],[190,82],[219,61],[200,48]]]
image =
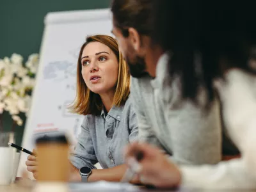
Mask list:
[[226,82],[218,85],[223,117],[232,140],[241,150],[241,159],[216,165],[181,166],[182,186],[210,189],[256,188],[256,78],[231,70]]

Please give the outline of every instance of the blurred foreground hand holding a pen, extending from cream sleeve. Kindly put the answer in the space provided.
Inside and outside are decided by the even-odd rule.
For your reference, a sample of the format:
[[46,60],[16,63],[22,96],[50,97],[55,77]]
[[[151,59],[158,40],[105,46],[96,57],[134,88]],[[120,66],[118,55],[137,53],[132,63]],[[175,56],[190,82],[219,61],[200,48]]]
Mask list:
[[[142,152],[143,158],[136,166],[136,172],[143,184],[154,185],[157,188],[175,188],[181,182],[181,173],[175,164],[171,163],[163,152],[148,144],[132,143],[125,151],[125,161],[132,168],[136,157]],[[133,160],[132,160],[133,159]]]

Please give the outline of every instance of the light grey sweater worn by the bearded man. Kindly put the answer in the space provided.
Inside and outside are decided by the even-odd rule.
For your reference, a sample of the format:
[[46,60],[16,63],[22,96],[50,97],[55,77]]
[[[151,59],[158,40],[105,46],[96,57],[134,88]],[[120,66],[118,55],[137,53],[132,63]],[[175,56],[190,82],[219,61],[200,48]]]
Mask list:
[[[167,54],[163,54],[155,79],[132,78],[139,140],[162,147],[176,163],[218,163],[222,156],[219,103],[214,100],[208,113],[190,101],[180,103],[179,80],[170,83],[167,61]],[[198,98],[204,100],[204,94],[202,91]]]

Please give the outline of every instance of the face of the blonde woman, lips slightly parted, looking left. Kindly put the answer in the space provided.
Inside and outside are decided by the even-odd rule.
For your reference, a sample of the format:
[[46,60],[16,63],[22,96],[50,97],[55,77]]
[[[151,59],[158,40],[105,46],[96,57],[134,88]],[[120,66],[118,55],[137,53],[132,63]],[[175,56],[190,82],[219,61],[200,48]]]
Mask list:
[[86,45],[81,56],[82,76],[94,93],[115,92],[118,79],[118,61],[115,53],[100,42]]

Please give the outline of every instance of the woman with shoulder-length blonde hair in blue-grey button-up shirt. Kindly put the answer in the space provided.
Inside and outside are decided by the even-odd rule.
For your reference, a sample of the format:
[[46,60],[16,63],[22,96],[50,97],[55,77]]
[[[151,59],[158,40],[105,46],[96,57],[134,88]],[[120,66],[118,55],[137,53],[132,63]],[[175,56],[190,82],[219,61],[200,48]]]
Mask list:
[[[129,92],[129,70],[115,39],[88,36],[79,52],[77,94],[72,105],[74,113],[84,115],[81,134],[70,154],[73,180],[118,181],[124,175],[123,148],[138,136]],[[35,160],[28,156],[26,164],[36,178]],[[97,170],[96,163],[103,169]]]

